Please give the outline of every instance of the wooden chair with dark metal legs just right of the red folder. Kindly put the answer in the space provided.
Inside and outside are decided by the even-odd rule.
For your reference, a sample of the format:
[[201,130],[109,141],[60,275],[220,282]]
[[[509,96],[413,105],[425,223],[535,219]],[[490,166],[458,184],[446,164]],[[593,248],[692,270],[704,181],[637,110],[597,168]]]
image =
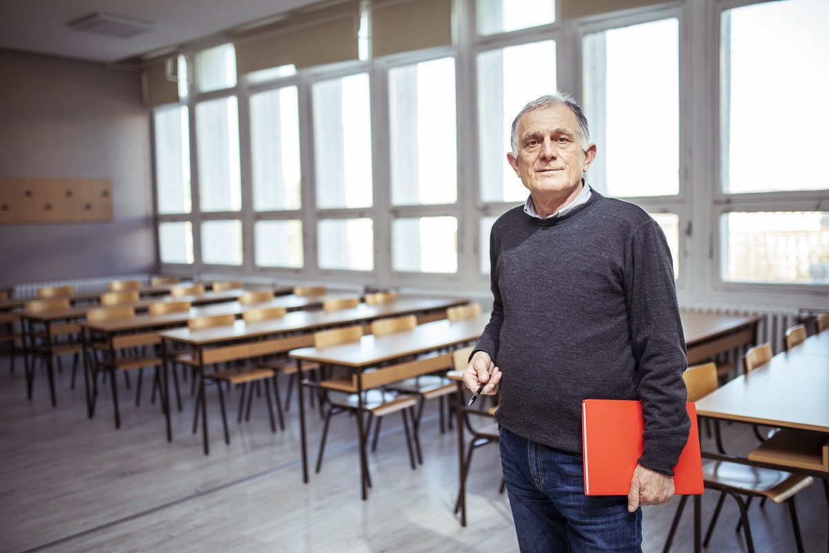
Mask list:
[[[706,363],[700,366],[691,366],[682,374],[688,388],[688,401],[696,401],[701,397],[710,394],[720,386],[717,379],[715,363]],[[750,458],[750,456],[749,456]],[[797,551],[802,553],[803,543],[800,535],[800,525],[797,522],[797,510],[794,506],[794,496],[797,492],[807,488],[813,482],[811,476],[787,473],[773,470],[771,468],[752,467],[742,463],[731,463],[728,461],[704,461],[702,476],[705,488],[714,489],[720,492],[720,498],[711,517],[708,531],[705,532],[703,546],[707,547],[717,517],[720,516],[720,509],[725,501],[725,496],[734,497],[740,512],[741,526],[743,526],[746,546],[749,551],[754,551],[754,541],[751,538],[749,527],[748,507],[751,497],[768,497],[775,503],[785,502],[788,505],[789,515],[792,519]],[[744,501],[742,496],[748,496],[749,501]],[[665,549],[669,551],[671,541],[676,532],[676,526],[685,507],[688,496],[681,496],[679,506],[676,508],[676,515],[668,532]],[[739,530],[739,526],[738,526]]]

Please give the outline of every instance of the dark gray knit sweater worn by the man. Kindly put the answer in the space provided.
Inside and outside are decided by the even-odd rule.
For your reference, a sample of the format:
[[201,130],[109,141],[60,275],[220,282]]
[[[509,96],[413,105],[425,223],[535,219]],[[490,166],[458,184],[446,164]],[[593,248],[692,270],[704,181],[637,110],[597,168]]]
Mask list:
[[686,350],[662,229],[592,191],[556,219],[507,211],[492,226],[492,318],[476,351],[503,371],[497,421],[581,454],[581,401],[642,400],[639,463],[673,467],[691,421]]

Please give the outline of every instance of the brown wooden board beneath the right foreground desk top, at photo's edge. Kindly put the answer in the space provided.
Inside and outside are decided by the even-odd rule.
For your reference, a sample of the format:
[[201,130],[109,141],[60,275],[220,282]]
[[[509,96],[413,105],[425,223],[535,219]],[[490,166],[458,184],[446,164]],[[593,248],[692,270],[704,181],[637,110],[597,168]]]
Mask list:
[[829,470],[829,437],[818,432],[778,429],[749,454],[752,461]]

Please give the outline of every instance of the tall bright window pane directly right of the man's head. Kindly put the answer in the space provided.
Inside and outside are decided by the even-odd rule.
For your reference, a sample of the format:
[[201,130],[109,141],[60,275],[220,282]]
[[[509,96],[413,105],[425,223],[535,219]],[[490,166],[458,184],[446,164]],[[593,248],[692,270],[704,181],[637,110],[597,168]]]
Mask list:
[[678,194],[678,20],[584,36],[584,85],[598,148],[587,181],[609,196]]

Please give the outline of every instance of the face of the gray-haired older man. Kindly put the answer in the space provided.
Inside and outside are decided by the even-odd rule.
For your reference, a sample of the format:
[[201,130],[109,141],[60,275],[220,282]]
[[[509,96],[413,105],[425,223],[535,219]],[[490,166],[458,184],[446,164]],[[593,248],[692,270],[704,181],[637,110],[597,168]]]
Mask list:
[[579,123],[566,105],[534,109],[518,121],[518,157],[507,161],[533,198],[573,194],[596,156],[595,144],[581,149]]

